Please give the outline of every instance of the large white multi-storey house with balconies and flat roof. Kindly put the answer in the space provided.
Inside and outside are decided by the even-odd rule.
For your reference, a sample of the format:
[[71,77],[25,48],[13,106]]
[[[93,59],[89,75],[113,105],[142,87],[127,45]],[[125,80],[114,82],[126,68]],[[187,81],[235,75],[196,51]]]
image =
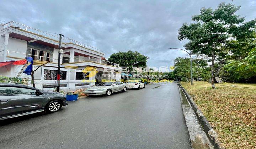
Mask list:
[[[0,24],[0,62],[22,60],[33,57],[33,69],[46,63],[34,73],[36,88],[52,90],[56,82],[58,66],[59,36],[11,21]],[[120,80],[118,64],[102,60],[104,53],[94,47],[72,39],[62,40],[61,55],[61,89],[81,88],[95,85],[95,80]],[[86,77],[82,72],[92,66]],[[0,75],[16,77],[23,65],[6,65],[0,67]],[[95,72],[93,72],[95,71]],[[107,75],[107,76],[105,76]],[[22,74],[20,78],[31,78]]]

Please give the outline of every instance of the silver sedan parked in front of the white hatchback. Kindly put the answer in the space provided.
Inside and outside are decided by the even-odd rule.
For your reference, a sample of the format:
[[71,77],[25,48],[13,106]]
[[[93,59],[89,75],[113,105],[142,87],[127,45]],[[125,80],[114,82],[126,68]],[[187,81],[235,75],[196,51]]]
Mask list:
[[121,81],[101,82],[95,87],[87,88],[84,93],[87,95],[103,95],[110,96],[114,92],[126,92],[127,84]]

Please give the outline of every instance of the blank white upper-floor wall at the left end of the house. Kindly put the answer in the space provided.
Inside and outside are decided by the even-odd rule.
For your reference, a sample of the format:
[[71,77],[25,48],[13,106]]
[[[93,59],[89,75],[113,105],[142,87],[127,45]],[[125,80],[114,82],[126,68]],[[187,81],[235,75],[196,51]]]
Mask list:
[[20,52],[20,53],[9,52],[8,56],[25,59],[26,55],[21,53],[27,53],[27,41],[9,37],[8,50]]

